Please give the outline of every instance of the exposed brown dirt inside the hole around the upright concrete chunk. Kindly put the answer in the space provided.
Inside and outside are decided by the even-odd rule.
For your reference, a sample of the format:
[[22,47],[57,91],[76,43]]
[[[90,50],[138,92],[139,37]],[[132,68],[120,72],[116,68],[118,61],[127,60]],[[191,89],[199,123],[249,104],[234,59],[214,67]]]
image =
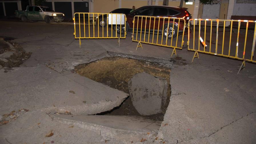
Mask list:
[[[84,77],[103,83],[114,89],[118,89],[129,94],[128,81],[136,74],[146,72],[157,77],[163,77],[169,83],[169,74],[171,69],[159,66],[157,63],[151,63],[142,60],[129,59],[123,57],[105,57],[95,62],[79,65],[75,71]],[[164,109],[169,104],[171,89],[168,88],[168,101]],[[141,116],[132,105],[129,96],[121,105],[111,111],[100,113],[99,115],[135,115]],[[164,113],[143,116],[148,119],[163,121]]]

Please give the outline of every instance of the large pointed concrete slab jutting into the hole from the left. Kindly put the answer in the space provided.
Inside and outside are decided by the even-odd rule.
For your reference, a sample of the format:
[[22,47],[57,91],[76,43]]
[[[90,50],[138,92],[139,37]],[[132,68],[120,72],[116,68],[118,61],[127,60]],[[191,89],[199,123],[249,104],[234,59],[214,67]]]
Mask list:
[[42,65],[1,69],[0,73],[0,114],[20,108],[96,114],[119,106],[128,96],[78,75],[79,83],[71,79],[74,75],[67,77]]

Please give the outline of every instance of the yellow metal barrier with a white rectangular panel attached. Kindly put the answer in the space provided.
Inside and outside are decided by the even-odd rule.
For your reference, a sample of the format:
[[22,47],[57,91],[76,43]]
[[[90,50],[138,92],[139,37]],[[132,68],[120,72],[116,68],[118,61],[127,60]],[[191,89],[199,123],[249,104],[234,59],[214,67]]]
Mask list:
[[[126,16],[121,13],[75,13],[74,36],[79,39],[125,39]],[[119,43],[119,41],[118,41]]]

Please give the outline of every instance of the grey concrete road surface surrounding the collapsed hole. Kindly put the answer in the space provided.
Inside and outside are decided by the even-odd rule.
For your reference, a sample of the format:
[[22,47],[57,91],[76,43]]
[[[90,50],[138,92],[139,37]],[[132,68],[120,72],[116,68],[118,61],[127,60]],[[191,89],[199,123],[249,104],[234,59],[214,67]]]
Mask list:
[[[135,51],[137,43],[131,41],[129,33],[126,39],[120,40],[121,47],[118,47],[117,39],[86,39],[81,41],[82,45],[79,48],[79,41],[73,41],[72,25],[3,21],[0,21],[0,24],[3,25],[0,35],[16,37],[16,42],[20,42],[27,52],[32,52],[31,58],[21,67],[0,70],[0,85],[3,87],[0,97],[1,114],[21,108],[31,110],[0,127],[1,132],[6,133],[2,135],[0,142],[7,143],[5,138],[9,141],[18,137],[26,141],[13,143],[38,143],[36,139],[48,139],[45,133],[51,129],[45,125],[43,132],[40,132],[43,135],[41,138],[35,137],[34,141],[27,141],[36,131],[36,127],[29,128],[37,126],[40,122],[38,119],[41,118],[46,119],[46,123],[51,123],[54,128],[61,125],[57,133],[61,133],[62,138],[64,135],[76,140],[83,137],[74,142],[65,141],[67,138],[58,138],[57,143],[105,143],[106,137],[95,138],[93,136],[95,132],[82,128],[69,131],[70,126],[59,124],[55,120],[51,121],[49,115],[52,113],[47,115],[39,111],[51,108],[50,112],[52,110],[56,112],[57,107],[57,110],[70,110],[72,114],[72,111],[75,114],[81,111],[85,114],[93,114],[105,110],[107,101],[101,105],[102,109],[95,111],[90,111],[91,108],[84,106],[76,109],[71,105],[83,105],[83,101],[86,101],[86,105],[93,106],[94,102],[101,101],[103,95],[111,98],[112,102],[109,103],[121,102],[126,96],[125,93],[67,71],[73,69],[75,65],[105,57],[107,52],[174,60],[170,79],[171,100],[155,143],[233,144],[254,143],[256,140],[255,64],[246,63],[245,70],[237,75],[242,62],[233,59],[199,53],[200,59],[196,58],[191,63],[194,53],[187,49],[176,50],[177,57],[171,59],[173,49],[147,44],[142,44],[143,49],[138,48]],[[24,43],[24,41],[30,42]],[[71,44],[68,45],[69,43]],[[75,94],[69,91],[74,91]],[[93,97],[95,91],[99,93],[96,98]],[[111,97],[112,92],[115,96],[122,95],[122,97],[119,99]],[[33,99],[27,95],[33,96]],[[64,102],[66,103],[63,104]],[[17,127],[29,129],[28,134],[22,133],[20,129],[15,132]],[[91,138],[95,138],[96,141],[90,141]],[[83,141],[85,139],[87,141]],[[106,140],[110,140],[107,141],[108,143],[123,143],[111,137]]]

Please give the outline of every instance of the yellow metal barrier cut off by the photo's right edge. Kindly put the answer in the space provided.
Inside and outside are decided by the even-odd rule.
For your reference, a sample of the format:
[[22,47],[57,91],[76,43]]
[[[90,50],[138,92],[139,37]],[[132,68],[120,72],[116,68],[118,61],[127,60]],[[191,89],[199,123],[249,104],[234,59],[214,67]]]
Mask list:
[[[197,21],[198,25],[195,25]],[[191,26],[191,22],[193,22],[193,26]],[[201,23],[203,23],[203,35],[201,35]],[[226,27],[227,23],[230,23],[229,27]],[[234,23],[238,23],[238,27],[233,27]],[[245,29],[240,29],[242,23],[246,24]],[[249,20],[190,19],[188,24],[187,45],[189,51],[195,51],[192,62],[195,57],[199,59],[198,52],[243,60],[238,73],[245,67],[245,61],[256,63],[256,59],[253,57],[255,54],[256,40],[255,23],[256,21]],[[255,25],[254,31],[249,31],[248,25]],[[193,34],[192,48],[190,48],[190,31],[192,31]],[[195,33],[198,33],[198,35]],[[228,35],[225,35],[225,33]],[[232,35],[232,33],[235,34]],[[221,36],[219,37],[219,35]],[[221,44],[218,44],[218,41],[221,41]],[[218,45],[221,45],[222,48],[220,49]],[[212,49],[213,46],[215,49]]]

